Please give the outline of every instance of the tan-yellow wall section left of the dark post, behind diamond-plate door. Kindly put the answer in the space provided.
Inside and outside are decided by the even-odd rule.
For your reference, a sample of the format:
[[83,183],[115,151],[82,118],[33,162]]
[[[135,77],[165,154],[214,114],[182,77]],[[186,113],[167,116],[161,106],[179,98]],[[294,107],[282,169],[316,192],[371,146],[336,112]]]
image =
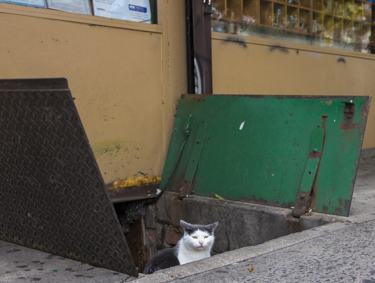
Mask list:
[[66,77],[105,183],[162,174],[186,93],[184,3],[158,4],[150,25],[0,3],[0,78]]

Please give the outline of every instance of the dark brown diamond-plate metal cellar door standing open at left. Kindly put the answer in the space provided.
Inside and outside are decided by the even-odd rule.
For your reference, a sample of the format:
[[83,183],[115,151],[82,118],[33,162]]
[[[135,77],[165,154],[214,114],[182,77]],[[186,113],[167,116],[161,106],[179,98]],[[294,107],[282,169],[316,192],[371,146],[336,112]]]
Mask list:
[[70,90],[18,81],[0,89],[0,239],[138,276]]

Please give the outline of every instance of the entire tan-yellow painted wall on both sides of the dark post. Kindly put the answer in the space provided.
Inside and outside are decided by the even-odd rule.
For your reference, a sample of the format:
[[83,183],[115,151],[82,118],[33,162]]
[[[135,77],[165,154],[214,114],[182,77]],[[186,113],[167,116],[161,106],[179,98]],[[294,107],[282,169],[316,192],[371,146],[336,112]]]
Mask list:
[[[162,174],[186,93],[184,1],[157,3],[157,25],[0,3],[0,78],[68,78],[105,183]],[[213,33],[214,93],[375,91],[375,55],[228,38]],[[372,103],[365,148],[375,147],[374,121]]]

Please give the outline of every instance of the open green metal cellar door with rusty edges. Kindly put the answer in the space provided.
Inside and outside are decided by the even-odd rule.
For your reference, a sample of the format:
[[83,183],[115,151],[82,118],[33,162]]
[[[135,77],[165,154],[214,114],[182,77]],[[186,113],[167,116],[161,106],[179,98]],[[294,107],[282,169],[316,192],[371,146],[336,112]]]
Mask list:
[[370,100],[182,95],[160,188],[348,216]]

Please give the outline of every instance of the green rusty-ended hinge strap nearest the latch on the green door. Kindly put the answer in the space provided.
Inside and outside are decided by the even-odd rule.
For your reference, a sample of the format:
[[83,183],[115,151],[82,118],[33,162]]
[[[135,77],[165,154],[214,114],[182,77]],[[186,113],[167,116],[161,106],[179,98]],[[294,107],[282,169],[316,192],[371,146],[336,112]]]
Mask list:
[[321,152],[323,150],[323,139],[324,129],[319,125],[312,132],[309,157],[306,163],[305,172],[302,176],[301,186],[293,210],[294,217],[299,218],[306,212],[306,206],[309,201],[311,188],[314,184]]

